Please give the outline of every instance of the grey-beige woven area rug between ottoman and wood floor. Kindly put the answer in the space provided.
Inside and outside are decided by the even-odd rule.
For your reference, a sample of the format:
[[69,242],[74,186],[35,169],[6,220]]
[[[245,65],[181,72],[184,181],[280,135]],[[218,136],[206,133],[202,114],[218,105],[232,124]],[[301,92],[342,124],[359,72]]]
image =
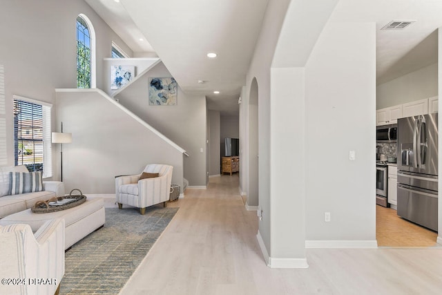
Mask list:
[[102,229],[66,252],[59,294],[118,294],[178,208],[106,208]]

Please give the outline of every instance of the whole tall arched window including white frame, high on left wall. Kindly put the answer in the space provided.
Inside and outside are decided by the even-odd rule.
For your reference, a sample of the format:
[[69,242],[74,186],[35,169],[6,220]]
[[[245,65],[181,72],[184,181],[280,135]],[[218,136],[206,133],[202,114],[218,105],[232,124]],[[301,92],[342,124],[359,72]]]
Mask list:
[[95,88],[95,32],[86,15],[77,17],[77,88]]

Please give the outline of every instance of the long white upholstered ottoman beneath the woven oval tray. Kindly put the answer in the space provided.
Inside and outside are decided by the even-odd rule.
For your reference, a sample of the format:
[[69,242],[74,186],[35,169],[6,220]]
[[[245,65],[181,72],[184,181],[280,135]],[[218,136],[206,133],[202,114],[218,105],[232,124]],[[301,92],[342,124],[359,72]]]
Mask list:
[[47,220],[63,218],[65,222],[65,248],[99,229],[105,221],[104,202],[102,198],[87,199],[76,207],[50,213],[34,213],[30,209],[11,214],[0,220],[0,225],[23,223],[30,225],[35,232]]

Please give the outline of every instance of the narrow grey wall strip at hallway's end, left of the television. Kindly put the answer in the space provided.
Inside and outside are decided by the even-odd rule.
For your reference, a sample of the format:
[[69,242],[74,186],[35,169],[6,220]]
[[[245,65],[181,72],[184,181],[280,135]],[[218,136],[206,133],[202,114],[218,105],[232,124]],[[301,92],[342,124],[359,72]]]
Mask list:
[[209,175],[220,175],[220,112],[209,111]]

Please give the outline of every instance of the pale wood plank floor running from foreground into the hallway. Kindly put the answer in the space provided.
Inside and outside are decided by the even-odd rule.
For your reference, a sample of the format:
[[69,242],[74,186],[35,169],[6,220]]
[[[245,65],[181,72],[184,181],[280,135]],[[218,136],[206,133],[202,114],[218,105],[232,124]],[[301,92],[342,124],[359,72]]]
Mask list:
[[180,210],[121,294],[441,294],[441,249],[307,249],[307,269],[270,269],[238,176],[211,178]]

